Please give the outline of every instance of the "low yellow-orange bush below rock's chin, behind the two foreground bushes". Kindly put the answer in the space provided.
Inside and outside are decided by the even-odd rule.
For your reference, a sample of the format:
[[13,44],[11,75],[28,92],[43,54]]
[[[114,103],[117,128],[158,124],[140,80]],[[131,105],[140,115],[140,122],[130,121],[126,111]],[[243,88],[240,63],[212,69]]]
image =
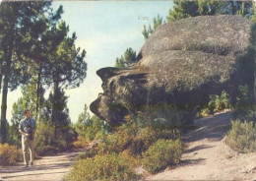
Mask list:
[[153,127],[139,128],[136,123],[125,124],[116,132],[107,135],[99,144],[97,152],[110,153],[130,151],[134,155],[141,155],[159,139],[176,139],[180,132],[176,129],[153,129]]

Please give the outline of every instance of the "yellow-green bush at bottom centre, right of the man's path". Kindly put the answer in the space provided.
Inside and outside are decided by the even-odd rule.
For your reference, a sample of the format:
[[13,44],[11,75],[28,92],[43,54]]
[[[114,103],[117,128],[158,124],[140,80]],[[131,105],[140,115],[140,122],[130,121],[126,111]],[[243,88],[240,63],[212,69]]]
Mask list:
[[137,175],[130,162],[118,154],[102,154],[78,160],[66,180],[135,180]]

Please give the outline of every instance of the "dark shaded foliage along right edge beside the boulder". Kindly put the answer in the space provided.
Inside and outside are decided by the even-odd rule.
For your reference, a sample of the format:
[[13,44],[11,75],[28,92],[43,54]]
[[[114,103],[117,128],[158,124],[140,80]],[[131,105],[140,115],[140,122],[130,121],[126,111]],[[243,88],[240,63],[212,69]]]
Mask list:
[[232,119],[241,121],[255,120],[255,57],[256,57],[256,24],[251,26],[250,45],[243,56],[236,59],[236,82],[238,93],[234,101]]

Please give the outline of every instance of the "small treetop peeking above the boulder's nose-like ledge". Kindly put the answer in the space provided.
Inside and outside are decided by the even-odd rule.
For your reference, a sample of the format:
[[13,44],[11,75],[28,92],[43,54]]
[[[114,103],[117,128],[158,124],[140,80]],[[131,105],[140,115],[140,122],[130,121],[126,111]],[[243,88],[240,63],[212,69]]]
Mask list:
[[136,61],[136,51],[130,47],[125,50],[124,55],[121,55],[121,58],[116,58],[115,67],[126,68]]

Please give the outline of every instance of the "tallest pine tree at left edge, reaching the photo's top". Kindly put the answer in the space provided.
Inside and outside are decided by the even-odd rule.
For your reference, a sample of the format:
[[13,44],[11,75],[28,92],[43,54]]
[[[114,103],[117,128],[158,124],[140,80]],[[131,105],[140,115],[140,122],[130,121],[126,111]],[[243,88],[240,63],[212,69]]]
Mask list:
[[[28,56],[32,39],[45,28],[45,16],[50,2],[2,2],[0,4],[0,54],[3,79],[1,107],[1,142],[6,142],[6,111],[8,90],[30,80]],[[0,80],[1,80],[0,79]]]

